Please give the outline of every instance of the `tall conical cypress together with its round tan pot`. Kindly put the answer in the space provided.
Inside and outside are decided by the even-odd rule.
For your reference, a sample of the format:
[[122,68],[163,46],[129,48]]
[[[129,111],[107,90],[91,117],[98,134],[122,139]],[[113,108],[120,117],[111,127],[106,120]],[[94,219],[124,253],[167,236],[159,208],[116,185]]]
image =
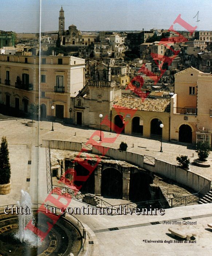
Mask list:
[[1,138],[0,147],[0,194],[10,193],[11,169],[9,164],[9,150],[6,137]]

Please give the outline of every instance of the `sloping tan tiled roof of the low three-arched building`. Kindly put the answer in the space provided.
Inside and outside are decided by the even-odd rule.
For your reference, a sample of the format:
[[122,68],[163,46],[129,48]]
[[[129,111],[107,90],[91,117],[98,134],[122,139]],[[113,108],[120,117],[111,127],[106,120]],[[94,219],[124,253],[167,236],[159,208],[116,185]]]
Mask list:
[[170,101],[168,99],[142,99],[132,97],[116,97],[114,99],[113,108],[126,108],[126,109],[137,109],[145,111],[157,111],[166,112],[168,111],[168,105]]

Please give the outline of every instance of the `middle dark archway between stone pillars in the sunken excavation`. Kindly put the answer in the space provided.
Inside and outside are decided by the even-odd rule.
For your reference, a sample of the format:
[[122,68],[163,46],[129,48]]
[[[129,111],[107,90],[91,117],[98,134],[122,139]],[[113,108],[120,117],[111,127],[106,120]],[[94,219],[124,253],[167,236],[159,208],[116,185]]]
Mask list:
[[101,195],[122,199],[123,175],[120,170],[113,166],[106,167],[102,170]]

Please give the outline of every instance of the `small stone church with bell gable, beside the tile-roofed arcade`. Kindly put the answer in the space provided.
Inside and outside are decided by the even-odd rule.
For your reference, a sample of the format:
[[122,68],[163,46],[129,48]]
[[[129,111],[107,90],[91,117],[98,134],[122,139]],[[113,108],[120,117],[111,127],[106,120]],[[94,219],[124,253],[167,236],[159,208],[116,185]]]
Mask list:
[[[99,129],[100,118],[107,116],[110,120],[114,98],[121,96],[121,89],[111,80],[110,67],[104,65],[103,72],[97,69],[93,72],[93,80],[89,80],[78,95],[71,98],[71,121],[76,125],[83,125]],[[98,73],[97,73],[98,72]],[[102,125],[102,129],[110,131],[110,127]]]

